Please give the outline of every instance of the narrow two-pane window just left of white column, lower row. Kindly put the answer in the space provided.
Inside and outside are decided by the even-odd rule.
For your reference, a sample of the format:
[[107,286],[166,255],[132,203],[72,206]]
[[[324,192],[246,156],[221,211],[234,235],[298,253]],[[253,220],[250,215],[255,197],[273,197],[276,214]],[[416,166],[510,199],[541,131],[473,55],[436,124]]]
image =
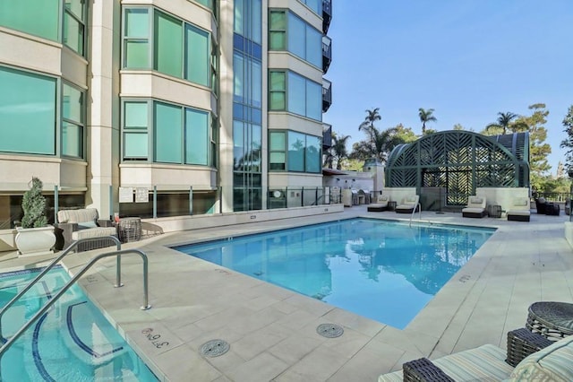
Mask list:
[[62,91],[62,155],[83,158],[84,95],[66,83]]

